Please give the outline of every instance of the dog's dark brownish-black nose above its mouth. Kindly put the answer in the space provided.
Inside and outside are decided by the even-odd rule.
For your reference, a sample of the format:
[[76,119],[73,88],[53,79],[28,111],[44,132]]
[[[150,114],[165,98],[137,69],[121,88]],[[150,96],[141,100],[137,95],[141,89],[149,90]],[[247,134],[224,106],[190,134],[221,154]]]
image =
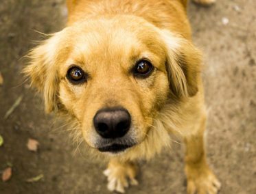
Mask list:
[[130,122],[130,114],[123,108],[101,109],[93,118],[97,133],[104,138],[123,137],[130,128]]

